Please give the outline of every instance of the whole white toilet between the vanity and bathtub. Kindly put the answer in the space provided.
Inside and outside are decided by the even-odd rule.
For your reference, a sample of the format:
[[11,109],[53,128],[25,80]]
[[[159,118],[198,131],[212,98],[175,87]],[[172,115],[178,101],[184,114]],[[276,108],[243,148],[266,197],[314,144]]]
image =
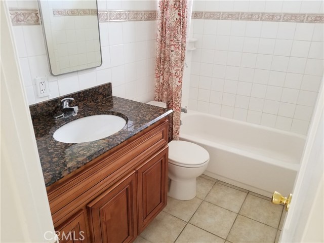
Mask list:
[[[166,108],[163,102],[147,104]],[[208,151],[197,144],[186,141],[169,143],[168,195],[178,200],[190,200],[196,196],[196,178],[204,173],[209,163]]]

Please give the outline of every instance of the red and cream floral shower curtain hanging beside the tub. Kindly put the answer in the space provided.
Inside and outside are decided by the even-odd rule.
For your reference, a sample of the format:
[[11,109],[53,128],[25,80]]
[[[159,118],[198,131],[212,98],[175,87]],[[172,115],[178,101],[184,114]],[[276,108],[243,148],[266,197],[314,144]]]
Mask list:
[[187,0],[158,2],[155,101],[167,103],[174,111],[169,122],[169,140],[179,140],[187,4]]

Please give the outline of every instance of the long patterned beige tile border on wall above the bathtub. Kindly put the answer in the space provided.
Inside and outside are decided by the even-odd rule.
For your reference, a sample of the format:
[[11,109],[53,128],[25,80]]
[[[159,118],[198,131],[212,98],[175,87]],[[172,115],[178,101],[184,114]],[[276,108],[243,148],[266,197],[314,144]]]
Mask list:
[[192,12],[193,19],[275,21],[295,23],[324,23],[323,14],[257,13],[257,12]]

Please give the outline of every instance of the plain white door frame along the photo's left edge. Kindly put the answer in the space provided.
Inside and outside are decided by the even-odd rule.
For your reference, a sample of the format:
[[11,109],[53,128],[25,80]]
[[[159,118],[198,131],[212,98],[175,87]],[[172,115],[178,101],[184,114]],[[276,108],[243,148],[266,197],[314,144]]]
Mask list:
[[1,242],[55,242],[6,3],[1,10]]

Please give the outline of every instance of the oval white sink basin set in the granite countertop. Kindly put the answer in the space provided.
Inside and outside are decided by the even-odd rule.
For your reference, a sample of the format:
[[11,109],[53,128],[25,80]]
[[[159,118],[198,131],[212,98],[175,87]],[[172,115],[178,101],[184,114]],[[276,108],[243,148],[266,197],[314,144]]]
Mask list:
[[116,115],[92,115],[63,125],[53,134],[62,143],[85,143],[108,137],[126,125],[126,120]]

